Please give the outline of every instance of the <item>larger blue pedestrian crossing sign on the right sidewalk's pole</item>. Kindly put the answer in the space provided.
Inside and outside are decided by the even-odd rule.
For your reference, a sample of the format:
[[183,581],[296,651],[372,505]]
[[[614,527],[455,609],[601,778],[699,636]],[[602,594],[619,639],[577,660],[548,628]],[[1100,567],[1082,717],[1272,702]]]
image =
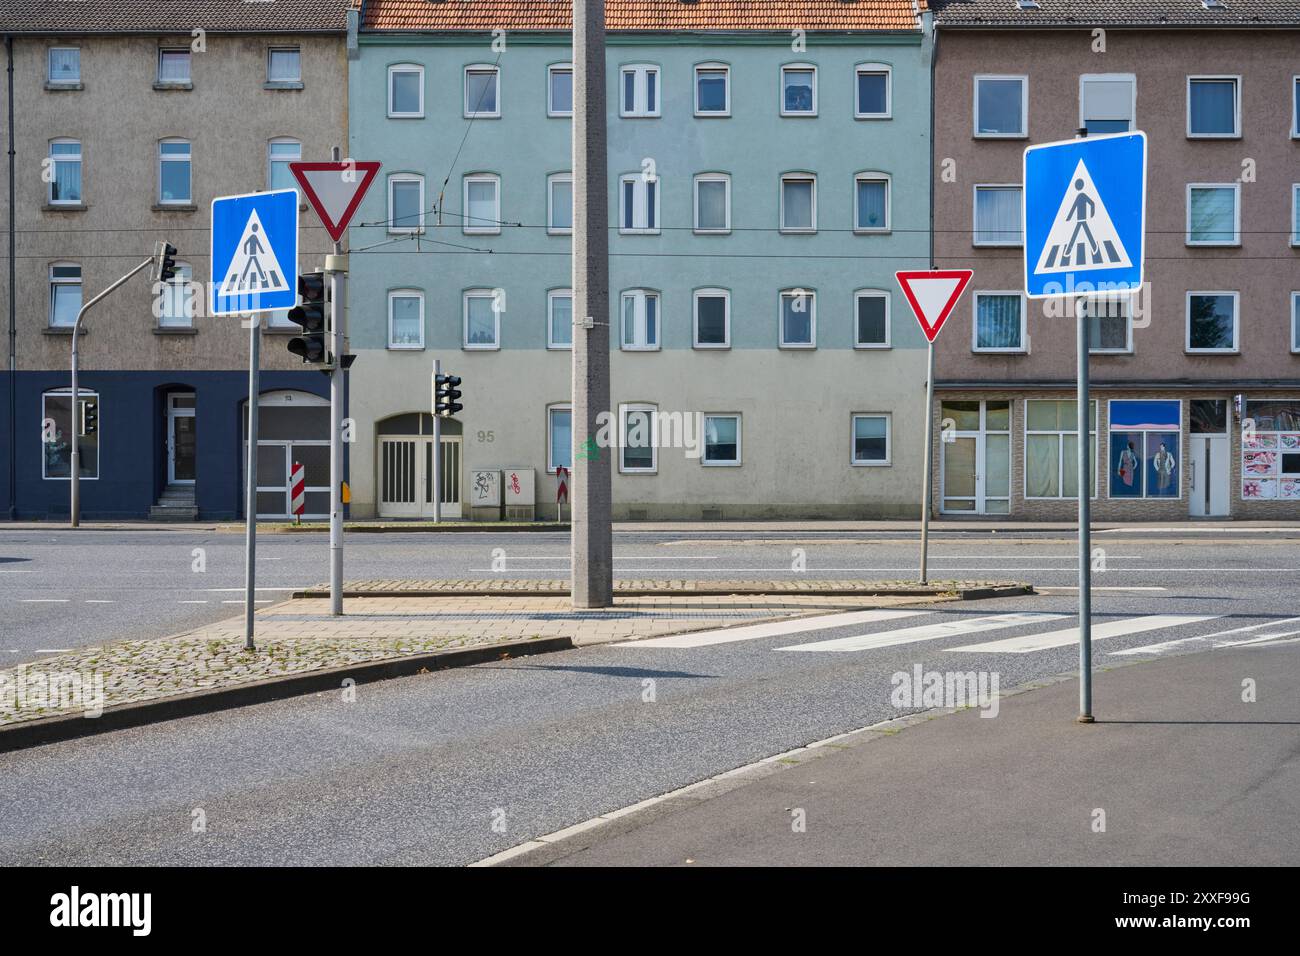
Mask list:
[[1147,134],[1024,151],[1024,291],[1031,299],[1136,290],[1147,241]]

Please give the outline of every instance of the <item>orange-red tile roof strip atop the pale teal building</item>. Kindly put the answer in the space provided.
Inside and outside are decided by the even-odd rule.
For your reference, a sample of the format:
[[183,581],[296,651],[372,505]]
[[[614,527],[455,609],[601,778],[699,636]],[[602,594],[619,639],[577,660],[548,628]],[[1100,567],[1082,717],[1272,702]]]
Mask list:
[[[1008,0],[1010,1],[1010,0]],[[606,0],[607,30],[918,30],[926,0]],[[568,30],[571,0],[365,0],[365,30]]]

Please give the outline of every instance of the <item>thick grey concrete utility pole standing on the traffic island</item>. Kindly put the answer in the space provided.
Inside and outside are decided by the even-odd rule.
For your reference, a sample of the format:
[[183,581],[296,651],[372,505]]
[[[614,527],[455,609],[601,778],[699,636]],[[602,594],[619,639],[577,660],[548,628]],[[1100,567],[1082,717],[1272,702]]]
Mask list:
[[[573,497],[572,602],[614,604],[608,447],[595,442],[610,410],[610,220],[604,143],[604,0],[573,3]],[[615,423],[616,427],[616,423]]]

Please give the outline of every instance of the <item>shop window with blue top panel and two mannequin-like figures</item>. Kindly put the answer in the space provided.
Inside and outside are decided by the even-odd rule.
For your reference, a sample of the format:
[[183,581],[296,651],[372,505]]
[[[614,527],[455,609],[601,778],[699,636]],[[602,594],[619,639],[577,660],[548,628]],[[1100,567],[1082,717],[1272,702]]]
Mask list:
[[1110,401],[1112,498],[1176,498],[1183,403]]

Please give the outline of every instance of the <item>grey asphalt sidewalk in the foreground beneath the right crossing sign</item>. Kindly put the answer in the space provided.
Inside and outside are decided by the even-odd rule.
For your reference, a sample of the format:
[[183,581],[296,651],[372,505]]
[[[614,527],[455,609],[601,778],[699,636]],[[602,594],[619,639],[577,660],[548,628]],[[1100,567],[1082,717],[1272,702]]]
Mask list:
[[[1245,678],[1258,702],[1242,701]],[[1096,675],[1095,724],[1074,721],[1078,683],[1058,682],[993,719],[920,715],[801,748],[508,862],[1295,866],[1297,685],[1295,643],[1118,667]]]

